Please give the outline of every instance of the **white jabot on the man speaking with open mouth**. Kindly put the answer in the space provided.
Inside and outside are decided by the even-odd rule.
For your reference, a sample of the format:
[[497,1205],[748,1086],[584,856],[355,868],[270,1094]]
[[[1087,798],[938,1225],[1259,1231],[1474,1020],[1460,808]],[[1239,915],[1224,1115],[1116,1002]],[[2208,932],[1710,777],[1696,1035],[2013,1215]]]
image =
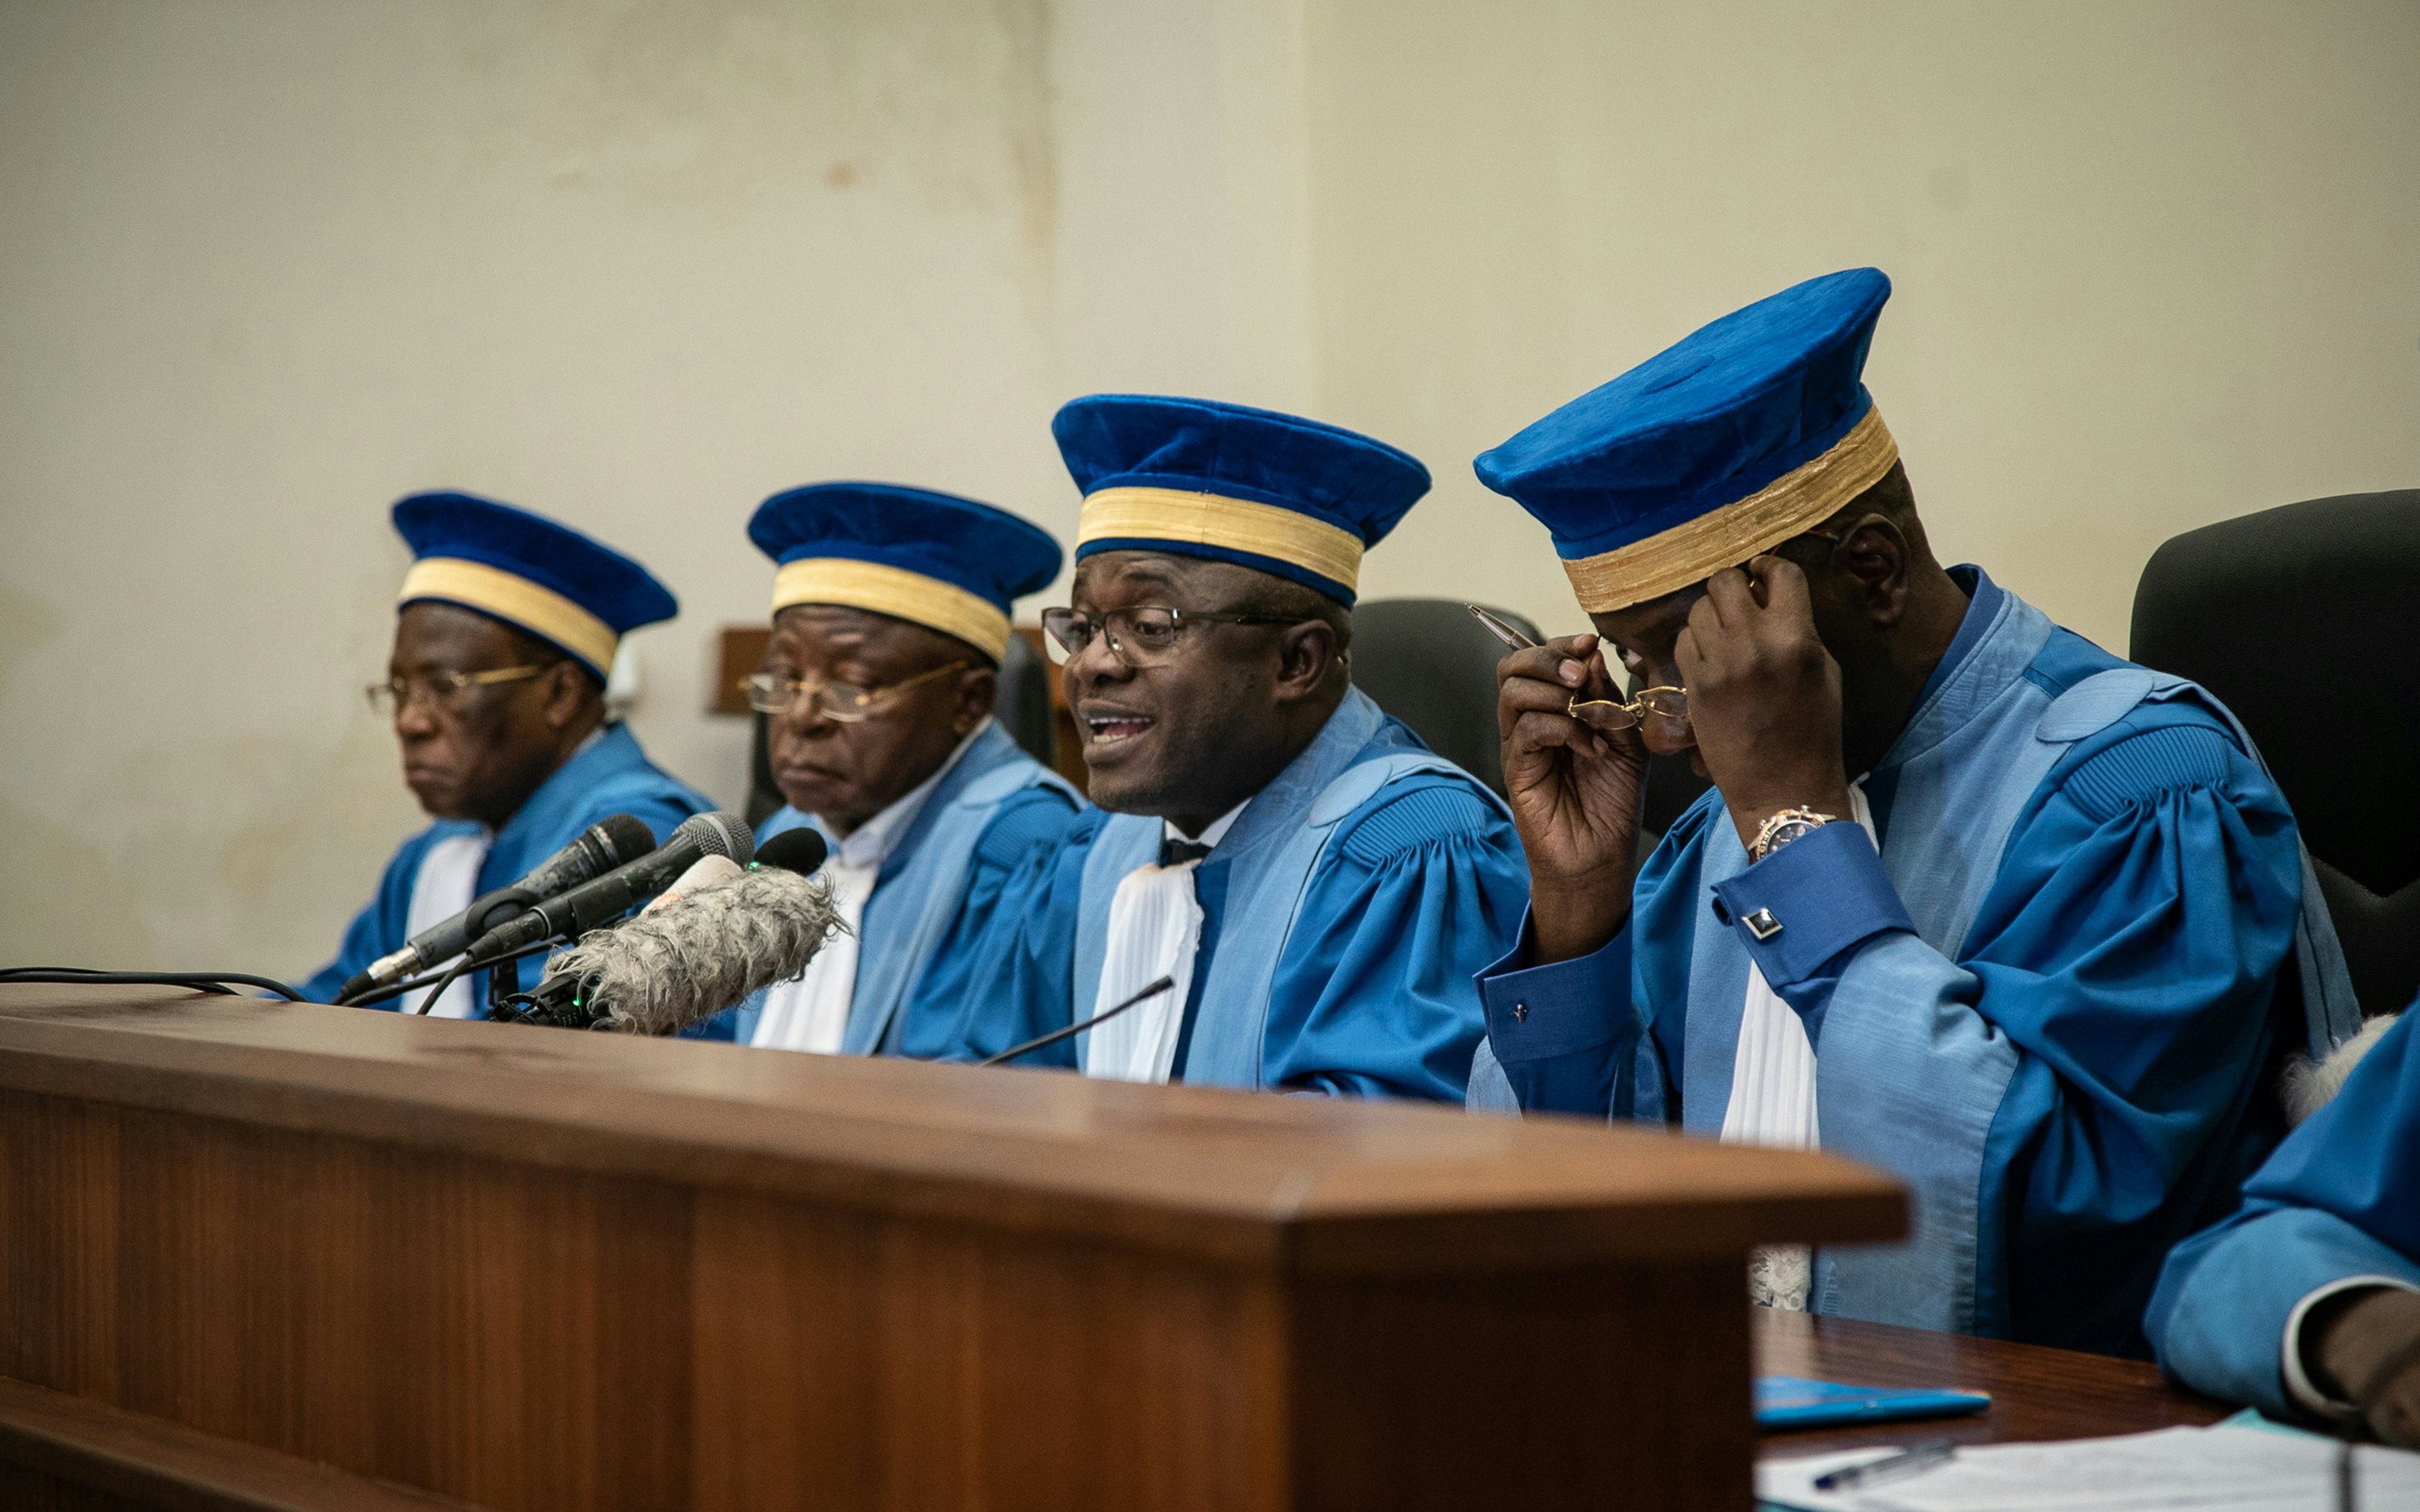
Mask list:
[[[1249,798],[1222,813],[1195,844],[1217,844],[1234,827]],[[1164,839],[1186,835],[1162,820]],[[1193,871],[1200,861],[1176,866],[1137,866],[1118,878],[1108,900],[1108,953],[1101,958],[1101,989],[1091,1014],[1104,1014],[1142,992],[1159,977],[1174,977],[1176,992],[1162,992],[1118,1014],[1101,1028],[1084,1031],[1084,1074],[1111,1081],[1166,1081],[1176,1069],[1176,1040],[1183,1038],[1186,999],[1193,994],[1193,956],[1203,941],[1203,905],[1193,895]],[[1087,1014],[1089,1016],[1089,1014]]]

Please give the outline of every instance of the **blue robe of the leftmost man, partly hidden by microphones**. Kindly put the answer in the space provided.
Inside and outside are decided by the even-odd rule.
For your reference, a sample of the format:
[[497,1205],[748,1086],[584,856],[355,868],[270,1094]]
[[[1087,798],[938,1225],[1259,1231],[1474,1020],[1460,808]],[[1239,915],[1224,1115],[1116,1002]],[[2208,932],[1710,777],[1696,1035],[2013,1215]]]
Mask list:
[[[578,839],[581,830],[615,813],[646,820],[646,827],[656,832],[656,842],[663,844],[663,837],[678,830],[680,820],[697,813],[714,813],[714,801],[649,762],[646,752],[639,750],[639,738],[627,726],[605,726],[569,762],[557,767],[530,793],[530,801],[496,830],[494,842],[486,847],[486,859],[479,861],[479,881],[472,888],[472,898],[518,881],[532,866]],[[394,852],[394,859],[387,861],[385,876],[378,878],[378,895],[365,910],[353,914],[336,958],[319,968],[310,982],[300,985],[302,994],[312,1002],[327,1002],[361,968],[404,948],[404,941],[411,939],[404,922],[411,914],[411,888],[421,876],[421,861],[438,844],[477,837],[479,832],[482,827],[469,820],[438,820],[407,839]],[[469,902],[469,898],[462,902]],[[535,980],[530,965],[523,965],[523,980]],[[467,982],[474,1016],[486,1018],[486,973],[472,973]],[[370,1006],[402,1009],[404,1004],[390,997]]]

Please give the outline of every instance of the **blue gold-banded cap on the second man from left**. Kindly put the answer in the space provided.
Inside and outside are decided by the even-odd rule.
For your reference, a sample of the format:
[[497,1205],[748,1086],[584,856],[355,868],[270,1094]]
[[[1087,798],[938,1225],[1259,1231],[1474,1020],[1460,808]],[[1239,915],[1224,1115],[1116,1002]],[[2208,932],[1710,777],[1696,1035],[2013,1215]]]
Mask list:
[[845,605],[958,636],[999,660],[1009,607],[1041,593],[1060,544],[1028,520],[932,489],[808,484],[774,494],[748,539],[782,564],[774,610]]

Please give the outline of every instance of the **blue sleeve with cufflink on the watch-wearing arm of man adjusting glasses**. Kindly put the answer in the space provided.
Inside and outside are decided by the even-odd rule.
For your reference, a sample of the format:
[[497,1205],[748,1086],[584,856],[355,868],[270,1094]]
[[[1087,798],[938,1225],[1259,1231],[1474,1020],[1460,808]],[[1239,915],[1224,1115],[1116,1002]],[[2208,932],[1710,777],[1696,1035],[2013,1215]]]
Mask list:
[[1716,888],[1786,924],[1740,934],[1815,1040],[1825,1149],[1975,1193],[1972,1318],[1951,1326],[2147,1352],[2161,1258],[2277,1139],[2284,798],[2212,716],[2144,706],[2045,779],[1958,960],[1890,888],[1851,825]]

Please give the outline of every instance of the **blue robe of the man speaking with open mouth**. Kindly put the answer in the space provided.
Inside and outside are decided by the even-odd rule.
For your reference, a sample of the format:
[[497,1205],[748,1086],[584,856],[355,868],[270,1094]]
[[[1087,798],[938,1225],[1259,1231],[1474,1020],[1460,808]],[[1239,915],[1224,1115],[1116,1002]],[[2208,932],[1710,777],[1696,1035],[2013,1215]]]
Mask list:
[[[1009,881],[995,927],[927,977],[963,1002],[958,1057],[1091,1014],[1118,881],[1162,820],[1089,810]],[[1471,975],[1529,898],[1510,813],[1360,689],[1195,871],[1203,907],[1171,1079],[1459,1098],[1479,1045]],[[1028,1057],[1079,1067],[1089,1035]]]

